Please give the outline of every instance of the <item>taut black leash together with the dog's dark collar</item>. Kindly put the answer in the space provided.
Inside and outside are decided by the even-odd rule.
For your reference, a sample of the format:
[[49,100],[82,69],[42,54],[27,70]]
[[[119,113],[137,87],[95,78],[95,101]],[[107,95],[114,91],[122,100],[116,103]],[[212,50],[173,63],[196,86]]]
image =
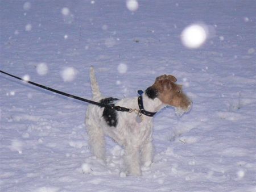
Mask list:
[[[65,93],[63,91],[52,89],[51,87],[47,87],[47,86],[44,86],[44,85],[36,84],[35,82],[32,82],[32,81],[23,80],[23,78],[14,76],[13,74],[10,74],[10,73],[3,72],[2,70],[0,70],[0,73],[6,74],[7,76],[16,78],[16,79],[18,79],[20,81],[23,81],[23,82],[27,82],[28,84],[32,84],[32,85],[41,87],[42,89],[46,89],[48,91],[52,91],[54,93],[57,93],[57,94],[60,94],[60,95],[64,95],[66,97],[77,99],[79,101],[83,101],[83,102],[90,103],[90,104],[93,104],[93,105],[97,105],[97,106],[100,106],[100,107],[105,107],[105,108],[109,108],[109,109],[112,109],[112,110],[124,111],[124,112],[133,112],[133,111],[135,111],[135,110],[132,110],[131,108],[115,106],[114,104],[104,104],[104,103],[95,102],[95,101],[92,101],[92,100],[89,100],[89,99],[77,97],[76,95],[68,94],[68,93]],[[147,116],[154,116],[156,114],[156,112],[148,112],[148,111],[144,110],[143,102],[142,102],[142,93],[143,93],[143,91],[141,92],[141,90],[139,90],[138,93],[140,94],[140,96],[138,98],[138,104],[139,104],[139,109],[140,109],[139,113],[147,115]]]

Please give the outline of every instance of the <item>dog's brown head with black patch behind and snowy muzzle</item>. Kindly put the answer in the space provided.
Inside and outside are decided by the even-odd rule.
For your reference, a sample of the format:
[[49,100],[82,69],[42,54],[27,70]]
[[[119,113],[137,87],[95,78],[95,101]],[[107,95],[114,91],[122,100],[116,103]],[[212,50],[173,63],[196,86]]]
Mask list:
[[183,93],[182,85],[177,85],[174,76],[166,75],[156,78],[155,83],[148,87],[146,94],[149,98],[158,98],[165,105],[173,106],[178,116],[191,109],[191,99]]

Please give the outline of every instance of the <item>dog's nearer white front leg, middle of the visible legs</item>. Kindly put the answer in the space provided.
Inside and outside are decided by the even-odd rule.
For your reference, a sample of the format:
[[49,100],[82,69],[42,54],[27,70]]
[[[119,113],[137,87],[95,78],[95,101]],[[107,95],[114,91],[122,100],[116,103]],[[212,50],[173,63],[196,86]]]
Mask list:
[[129,173],[133,176],[141,175],[141,165],[139,160],[139,147],[127,145],[125,148],[125,160]]

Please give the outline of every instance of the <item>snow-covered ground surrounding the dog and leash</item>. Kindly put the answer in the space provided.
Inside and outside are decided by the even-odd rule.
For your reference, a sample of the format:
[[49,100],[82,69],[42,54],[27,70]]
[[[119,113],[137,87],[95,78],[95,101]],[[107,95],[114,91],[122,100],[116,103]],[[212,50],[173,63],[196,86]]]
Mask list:
[[[112,140],[106,165],[90,154],[86,103],[0,74],[0,191],[256,191],[255,10],[254,0],[0,0],[0,70],[84,98],[90,65],[117,98],[173,74],[193,100],[181,118],[158,112],[154,163],[131,177]],[[185,47],[195,23],[207,38]]]

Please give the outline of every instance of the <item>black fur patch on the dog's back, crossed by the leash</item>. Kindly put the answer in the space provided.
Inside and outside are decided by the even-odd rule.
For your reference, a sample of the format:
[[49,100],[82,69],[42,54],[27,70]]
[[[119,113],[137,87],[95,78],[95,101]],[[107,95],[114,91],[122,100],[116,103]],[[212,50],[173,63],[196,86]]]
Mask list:
[[[104,103],[105,105],[111,105],[114,103],[114,101],[117,101],[117,98],[109,97],[105,99],[101,99],[101,103]],[[110,127],[116,127],[118,123],[117,119],[117,111],[112,110],[110,108],[104,108],[103,114],[102,114],[104,120]]]

